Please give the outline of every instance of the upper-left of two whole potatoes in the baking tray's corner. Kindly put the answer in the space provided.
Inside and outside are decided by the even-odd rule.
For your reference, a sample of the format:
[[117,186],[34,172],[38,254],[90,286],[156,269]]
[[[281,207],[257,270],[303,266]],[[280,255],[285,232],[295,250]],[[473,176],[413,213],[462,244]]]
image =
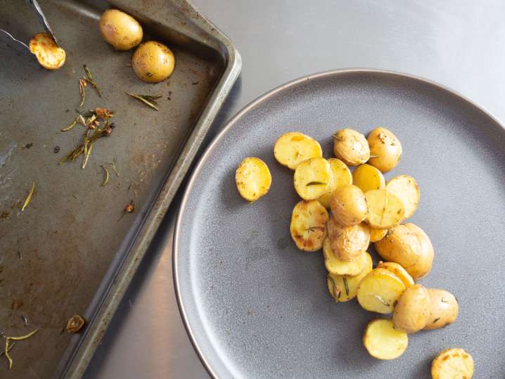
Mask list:
[[142,41],[142,27],[131,15],[108,9],[100,18],[100,33],[103,39],[117,50],[129,50]]

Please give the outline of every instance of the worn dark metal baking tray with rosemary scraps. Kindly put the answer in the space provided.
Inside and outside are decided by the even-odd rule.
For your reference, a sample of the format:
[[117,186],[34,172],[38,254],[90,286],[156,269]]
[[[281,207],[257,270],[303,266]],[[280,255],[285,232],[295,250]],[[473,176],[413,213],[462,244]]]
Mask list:
[[[0,36],[0,331],[16,336],[39,330],[15,345],[11,371],[0,356],[0,377],[78,378],[241,60],[229,39],[183,0],[39,4],[67,52],[63,68],[44,70],[32,54]],[[110,7],[136,16],[145,40],[174,51],[169,79],[141,82],[129,67],[132,51],[115,51],[103,41],[98,18]],[[41,31],[28,2],[18,0],[1,2],[0,27],[25,42]],[[83,64],[103,97],[88,86],[79,108]],[[160,110],[124,91],[162,95]],[[85,169],[80,160],[58,165],[84,133],[82,127],[60,129],[75,119],[75,109],[96,107],[115,112],[113,133],[96,142]],[[110,165],[114,159],[120,176]],[[103,187],[101,165],[110,170]],[[21,212],[32,181],[32,201]],[[124,214],[131,201],[134,212]],[[63,330],[74,314],[84,316],[87,326],[70,335]]]

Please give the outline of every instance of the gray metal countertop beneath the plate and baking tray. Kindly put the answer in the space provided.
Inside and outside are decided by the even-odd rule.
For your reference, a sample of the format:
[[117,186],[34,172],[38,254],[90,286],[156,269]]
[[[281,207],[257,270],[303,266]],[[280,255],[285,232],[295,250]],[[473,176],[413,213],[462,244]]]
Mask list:
[[[505,120],[504,1],[194,3],[228,34],[243,58],[241,77],[207,143],[257,96],[290,79],[335,68],[381,68],[426,77]],[[85,378],[208,378],[174,296],[172,233],[180,197],[181,191]]]

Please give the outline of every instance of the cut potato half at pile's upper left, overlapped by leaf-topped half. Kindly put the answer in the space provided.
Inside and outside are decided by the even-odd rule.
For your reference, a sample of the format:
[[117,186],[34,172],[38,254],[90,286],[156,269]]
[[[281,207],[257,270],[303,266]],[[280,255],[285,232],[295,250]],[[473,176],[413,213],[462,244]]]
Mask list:
[[298,131],[283,134],[274,146],[274,157],[277,162],[290,169],[295,169],[304,160],[322,156],[323,150],[319,142]]

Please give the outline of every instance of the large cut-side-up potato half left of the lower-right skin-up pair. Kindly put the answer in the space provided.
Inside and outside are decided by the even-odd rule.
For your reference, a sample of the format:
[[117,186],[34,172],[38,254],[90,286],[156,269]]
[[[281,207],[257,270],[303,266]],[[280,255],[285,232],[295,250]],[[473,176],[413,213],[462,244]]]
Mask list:
[[367,311],[388,314],[404,290],[404,283],[391,271],[373,269],[359,283],[358,302]]

